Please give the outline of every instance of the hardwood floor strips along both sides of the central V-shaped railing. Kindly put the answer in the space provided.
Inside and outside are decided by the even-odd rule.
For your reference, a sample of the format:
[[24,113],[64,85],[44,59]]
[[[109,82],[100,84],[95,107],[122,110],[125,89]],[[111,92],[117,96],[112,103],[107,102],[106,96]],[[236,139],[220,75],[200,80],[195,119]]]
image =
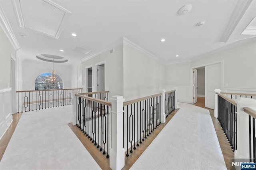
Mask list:
[[[164,128],[164,126],[172,119],[172,117],[177,113],[178,109],[174,110],[167,118],[166,122],[159,125],[158,128],[154,130],[154,132],[148,136],[148,138],[140,144],[139,147],[136,147],[132,153],[129,153],[130,156],[125,156],[125,166],[122,168],[123,170],[128,170],[130,167],[136,162],[136,160],[140,157],[140,155],[146,150],[146,148],[150,145],[150,143],[156,138],[159,132]],[[79,138],[84,147],[88,150],[88,152],[92,155],[94,160],[99,164],[100,168],[103,170],[109,170],[109,159],[106,158],[99,149],[94,146],[94,144],[88,140],[88,138],[79,130],[76,126],[73,126],[71,123],[68,124],[72,129],[74,134]]]

